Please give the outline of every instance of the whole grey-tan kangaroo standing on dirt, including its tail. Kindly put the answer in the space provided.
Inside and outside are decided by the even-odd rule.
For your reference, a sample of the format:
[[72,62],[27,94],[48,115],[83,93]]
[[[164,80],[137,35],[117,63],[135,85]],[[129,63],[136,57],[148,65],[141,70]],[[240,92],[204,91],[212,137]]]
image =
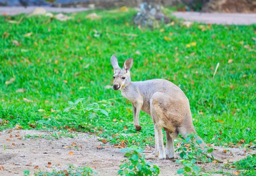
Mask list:
[[[116,55],[113,55],[111,65],[114,68],[113,89],[121,90],[122,96],[132,103],[135,130],[141,130],[140,110],[152,117],[155,134],[154,158],[175,158],[173,139],[177,138],[179,133],[185,138],[186,134],[196,134],[189,99],[177,85],[165,79],[132,82],[130,69],[133,58],[126,60],[121,69]],[[166,131],[166,150],[163,145],[162,128]],[[204,149],[205,142],[199,136],[198,139],[202,141],[200,146]],[[212,158],[212,156],[218,162],[231,163],[242,159],[242,157],[221,156],[215,151],[208,157]]]

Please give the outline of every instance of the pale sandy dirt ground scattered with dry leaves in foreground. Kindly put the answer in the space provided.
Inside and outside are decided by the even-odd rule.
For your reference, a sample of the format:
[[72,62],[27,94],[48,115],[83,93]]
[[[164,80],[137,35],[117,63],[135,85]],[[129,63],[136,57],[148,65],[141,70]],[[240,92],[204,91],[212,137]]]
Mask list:
[[[103,144],[99,137],[87,133],[77,133],[76,137],[62,137],[60,139],[26,138],[26,135],[48,135],[56,132],[49,131],[25,131],[12,130],[0,131],[0,170],[2,176],[22,176],[23,170],[30,170],[30,173],[41,171],[52,171],[67,168],[67,164],[79,167],[93,167],[98,176],[115,176],[119,170],[120,161],[125,159],[124,153],[119,148],[110,144]],[[12,135],[12,136],[11,136]],[[18,139],[20,138],[20,139]],[[82,148],[66,148],[76,143]],[[102,148],[98,148],[101,145]],[[4,150],[5,146],[5,150]],[[223,148],[218,148],[223,150]],[[244,155],[243,149],[225,148],[231,151],[234,156]],[[69,153],[73,152],[73,155]],[[229,154],[227,152],[226,154]],[[255,153],[255,151],[253,151]],[[178,153],[176,153],[178,156]],[[51,163],[49,165],[49,163]],[[174,176],[181,165],[171,160],[148,160],[160,167],[160,176]],[[35,167],[35,166],[38,166]],[[224,169],[223,164],[207,163],[201,164],[207,171],[232,172]],[[235,170],[234,170],[235,171]],[[234,172],[233,171],[233,172]],[[222,174],[213,174],[219,175]]]

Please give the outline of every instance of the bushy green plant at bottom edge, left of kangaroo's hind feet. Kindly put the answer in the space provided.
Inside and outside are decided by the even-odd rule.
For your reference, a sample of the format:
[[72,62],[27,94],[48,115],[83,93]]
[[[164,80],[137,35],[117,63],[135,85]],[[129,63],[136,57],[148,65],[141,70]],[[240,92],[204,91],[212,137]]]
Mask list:
[[160,169],[153,163],[145,162],[143,149],[138,146],[124,148],[120,152],[126,152],[127,159],[123,160],[120,165],[118,175],[120,176],[158,176]]

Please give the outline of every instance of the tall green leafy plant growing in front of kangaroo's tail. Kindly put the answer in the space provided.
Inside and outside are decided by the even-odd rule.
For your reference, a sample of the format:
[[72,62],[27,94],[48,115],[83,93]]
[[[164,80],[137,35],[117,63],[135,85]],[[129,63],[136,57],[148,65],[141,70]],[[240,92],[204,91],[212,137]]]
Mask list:
[[200,144],[202,141],[198,139],[197,135],[194,133],[187,134],[186,139],[181,143],[180,148],[178,148],[176,151],[180,152],[180,157],[183,160],[177,160],[176,163],[182,163],[184,167],[177,170],[178,174],[183,174],[185,176],[189,175],[195,175],[195,176],[207,176],[208,174],[202,174],[201,168],[198,167],[196,164],[198,162],[211,162],[211,159],[207,159],[207,154],[213,152],[213,148],[207,148],[206,150],[203,150],[200,147]]

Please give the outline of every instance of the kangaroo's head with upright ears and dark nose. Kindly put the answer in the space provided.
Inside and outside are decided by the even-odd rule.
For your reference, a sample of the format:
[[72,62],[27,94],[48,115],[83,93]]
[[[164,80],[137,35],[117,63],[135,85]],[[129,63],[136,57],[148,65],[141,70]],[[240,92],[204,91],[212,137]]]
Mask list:
[[125,60],[124,66],[121,69],[118,65],[116,55],[113,55],[111,57],[111,65],[114,68],[113,89],[117,91],[129,85],[131,83],[130,69],[133,65],[133,58]]

